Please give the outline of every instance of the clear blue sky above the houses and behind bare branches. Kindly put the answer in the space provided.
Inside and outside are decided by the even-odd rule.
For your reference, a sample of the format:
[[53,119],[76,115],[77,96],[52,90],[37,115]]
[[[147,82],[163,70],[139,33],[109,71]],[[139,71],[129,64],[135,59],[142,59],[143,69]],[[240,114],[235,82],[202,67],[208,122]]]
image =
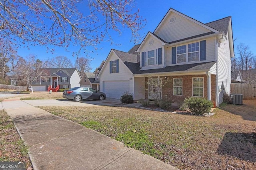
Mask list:
[[[145,27],[140,31],[142,39],[148,33],[153,32],[160,23],[166,12],[170,8],[177,10],[195,20],[202,23],[208,23],[214,20],[232,16],[234,48],[239,43],[244,43],[250,46],[250,50],[254,55],[256,54],[256,0],[137,0],[137,8],[140,9],[140,16],[147,20]],[[87,8],[85,7],[84,10]],[[129,51],[136,43],[130,42],[131,33],[127,29],[122,30],[122,35],[119,36],[117,32],[112,32],[114,43],[118,45],[111,45],[110,42],[102,42],[97,47],[98,50],[89,49],[92,53],[88,53],[91,61],[92,70],[100,65],[102,60],[105,60],[111,49],[120,51]],[[46,52],[46,47],[32,46],[27,48],[19,48],[18,55],[26,57],[29,54],[36,54],[38,59],[50,59],[59,55],[68,57],[74,63],[76,57],[72,57],[72,52],[77,51],[77,47],[70,46],[67,52],[62,48],[52,47],[55,53]],[[81,57],[86,57],[81,53]]]

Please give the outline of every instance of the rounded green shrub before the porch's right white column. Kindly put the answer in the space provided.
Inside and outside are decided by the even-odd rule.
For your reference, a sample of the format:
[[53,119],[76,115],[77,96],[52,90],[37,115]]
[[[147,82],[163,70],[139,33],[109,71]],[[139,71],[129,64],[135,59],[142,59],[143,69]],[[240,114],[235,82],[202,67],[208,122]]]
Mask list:
[[197,115],[209,113],[213,107],[213,103],[206,98],[189,97],[184,100],[190,111]]

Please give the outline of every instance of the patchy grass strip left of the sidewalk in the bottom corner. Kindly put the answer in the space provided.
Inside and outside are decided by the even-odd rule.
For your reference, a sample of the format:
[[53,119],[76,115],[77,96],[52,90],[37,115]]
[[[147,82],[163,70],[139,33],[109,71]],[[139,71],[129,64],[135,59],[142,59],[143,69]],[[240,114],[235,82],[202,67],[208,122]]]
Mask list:
[[26,162],[26,168],[32,169],[28,148],[4,110],[0,110],[0,161]]

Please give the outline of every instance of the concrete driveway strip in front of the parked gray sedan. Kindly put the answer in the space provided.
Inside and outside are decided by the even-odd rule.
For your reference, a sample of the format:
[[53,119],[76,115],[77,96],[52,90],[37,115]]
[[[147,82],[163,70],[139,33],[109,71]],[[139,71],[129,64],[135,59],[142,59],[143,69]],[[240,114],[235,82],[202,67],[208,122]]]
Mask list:
[[120,100],[106,98],[106,100],[82,100],[81,102],[74,102],[68,99],[44,99],[44,100],[22,100],[31,106],[126,106],[133,107],[141,104],[121,104]]

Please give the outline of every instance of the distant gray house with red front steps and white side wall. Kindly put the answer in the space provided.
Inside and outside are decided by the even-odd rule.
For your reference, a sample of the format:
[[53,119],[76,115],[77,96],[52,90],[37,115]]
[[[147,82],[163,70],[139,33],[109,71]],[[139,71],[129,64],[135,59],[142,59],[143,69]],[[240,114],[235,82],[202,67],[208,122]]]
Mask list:
[[34,91],[58,91],[60,88],[79,87],[81,76],[76,68],[42,68],[43,76],[32,82]]

